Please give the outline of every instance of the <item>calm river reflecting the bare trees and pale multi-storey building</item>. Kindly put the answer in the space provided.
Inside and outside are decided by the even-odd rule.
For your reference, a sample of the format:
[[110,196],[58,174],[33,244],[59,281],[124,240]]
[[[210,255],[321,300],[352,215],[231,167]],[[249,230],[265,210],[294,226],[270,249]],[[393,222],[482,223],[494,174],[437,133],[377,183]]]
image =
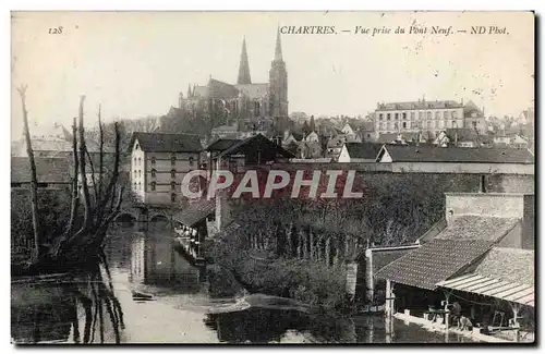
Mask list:
[[[214,298],[203,268],[193,267],[173,244],[172,232],[156,224],[146,232],[117,227],[106,245],[112,286],[123,312],[122,343],[443,343],[467,342],[383,316],[307,315],[295,309],[244,308],[233,298]],[[12,341],[72,343],[75,306],[65,284],[12,283]],[[73,307],[73,308],[72,308]],[[226,312],[226,308],[231,310]],[[84,312],[76,310],[80,331]],[[108,316],[105,342],[114,341]],[[93,333],[94,342],[98,333]]]

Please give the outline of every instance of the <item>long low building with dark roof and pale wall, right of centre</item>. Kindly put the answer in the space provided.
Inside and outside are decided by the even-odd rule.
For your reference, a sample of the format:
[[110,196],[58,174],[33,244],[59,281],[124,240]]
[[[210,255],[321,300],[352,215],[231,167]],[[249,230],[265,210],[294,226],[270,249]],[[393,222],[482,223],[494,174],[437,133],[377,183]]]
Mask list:
[[533,174],[534,156],[528,149],[464,148],[389,145],[382,147],[377,162],[392,163],[393,172]]

